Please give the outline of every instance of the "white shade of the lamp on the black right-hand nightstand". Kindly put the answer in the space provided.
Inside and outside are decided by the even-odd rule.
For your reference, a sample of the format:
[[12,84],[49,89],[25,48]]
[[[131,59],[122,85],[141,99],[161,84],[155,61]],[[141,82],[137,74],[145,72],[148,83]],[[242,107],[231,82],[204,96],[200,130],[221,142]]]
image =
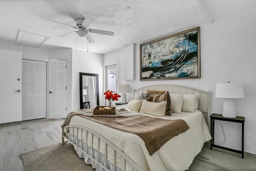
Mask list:
[[244,88],[236,83],[217,83],[215,97],[244,98]]

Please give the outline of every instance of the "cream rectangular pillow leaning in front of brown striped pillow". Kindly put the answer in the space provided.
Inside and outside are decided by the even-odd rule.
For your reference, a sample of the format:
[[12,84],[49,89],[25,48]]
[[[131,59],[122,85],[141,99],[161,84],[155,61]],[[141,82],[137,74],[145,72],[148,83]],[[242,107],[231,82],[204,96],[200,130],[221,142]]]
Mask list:
[[143,100],[140,107],[140,112],[152,114],[154,116],[165,116],[166,103],[167,101],[148,102],[147,100]]

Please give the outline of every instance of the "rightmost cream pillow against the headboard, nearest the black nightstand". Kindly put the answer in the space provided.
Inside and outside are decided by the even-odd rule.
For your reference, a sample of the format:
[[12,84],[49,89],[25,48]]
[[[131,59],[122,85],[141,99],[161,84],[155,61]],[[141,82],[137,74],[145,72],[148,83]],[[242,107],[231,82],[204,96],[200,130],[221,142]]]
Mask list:
[[196,112],[198,111],[199,94],[184,94],[181,111]]

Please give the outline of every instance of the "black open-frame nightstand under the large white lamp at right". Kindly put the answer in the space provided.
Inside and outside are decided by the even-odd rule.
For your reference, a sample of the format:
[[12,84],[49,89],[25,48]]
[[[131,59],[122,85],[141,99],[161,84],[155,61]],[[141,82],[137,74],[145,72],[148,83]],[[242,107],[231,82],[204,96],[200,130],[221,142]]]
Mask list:
[[[233,152],[236,152],[236,153],[240,153],[240,154],[242,154],[242,158],[244,158],[244,122],[245,122],[245,118],[241,117],[241,116],[236,116],[236,118],[226,118],[226,117],[223,117],[221,114],[212,114],[210,116],[210,118],[211,118],[211,136],[212,136],[211,149],[212,149],[212,147],[226,149],[228,151],[233,151]],[[242,150],[231,149],[231,148],[222,147],[222,146],[214,144],[214,123],[215,123],[215,120],[223,120],[223,121],[228,121],[228,122],[237,122],[237,123],[242,124]]]

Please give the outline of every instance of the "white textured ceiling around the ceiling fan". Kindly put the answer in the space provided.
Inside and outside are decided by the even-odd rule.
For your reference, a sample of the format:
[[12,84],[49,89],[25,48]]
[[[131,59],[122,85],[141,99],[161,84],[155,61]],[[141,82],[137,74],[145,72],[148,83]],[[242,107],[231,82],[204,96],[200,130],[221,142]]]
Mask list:
[[76,45],[76,33],[58,37],[76,29],[48,19],[75,26],[76,18],[90,16],[95,21],[89,28],[114,31],[114,36],[90,33],[95,42],[89,51],[105,54],[252,8],[255,0],[0,0],[0,39],[16,42],[20,29],[50,37],[45,48],[87,51],[86,38],[77,36]]

